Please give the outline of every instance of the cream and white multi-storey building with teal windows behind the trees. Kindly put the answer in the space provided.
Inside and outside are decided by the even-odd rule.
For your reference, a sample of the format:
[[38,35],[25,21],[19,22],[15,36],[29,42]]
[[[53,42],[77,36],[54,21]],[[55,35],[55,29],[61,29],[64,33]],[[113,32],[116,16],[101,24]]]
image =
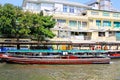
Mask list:
[[120,12],[106,10],[105,4],[101,8],[67,0],[23,1],[24,11],[53,15],[56,25],[51,30],[56,37],[52,41],[119,41]]

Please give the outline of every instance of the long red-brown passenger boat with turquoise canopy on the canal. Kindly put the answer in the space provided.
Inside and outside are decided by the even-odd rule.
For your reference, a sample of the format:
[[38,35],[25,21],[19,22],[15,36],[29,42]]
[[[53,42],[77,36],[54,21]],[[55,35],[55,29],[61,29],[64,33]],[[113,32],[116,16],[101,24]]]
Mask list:
[[[75,50],[76,51],[76,50]],[[10,54],[10,52],[12,52]],[[13,53],[15,52],[15,53]],[[83,51],[9,51],[4,56],[6,62],[19,64],[109,64],[110,58],[98,55],[98,53],[83,53]],[[14,54],[14,55],[13,55]],[[100,54],[100,53],[99,53]]]

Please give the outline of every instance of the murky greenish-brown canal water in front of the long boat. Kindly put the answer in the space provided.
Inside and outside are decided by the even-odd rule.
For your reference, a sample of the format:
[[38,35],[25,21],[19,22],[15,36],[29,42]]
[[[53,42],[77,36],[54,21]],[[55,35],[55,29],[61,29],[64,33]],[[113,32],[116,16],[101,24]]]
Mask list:
[[0,80],[120,80],[120,59],[85,65],[0,63]]

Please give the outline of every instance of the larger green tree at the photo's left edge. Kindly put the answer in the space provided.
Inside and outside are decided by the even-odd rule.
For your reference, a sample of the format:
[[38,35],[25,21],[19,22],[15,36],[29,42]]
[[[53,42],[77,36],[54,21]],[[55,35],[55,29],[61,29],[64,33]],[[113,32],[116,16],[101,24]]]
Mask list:
[[[6,38],[26,37],[30,33],[27,13],[24,13],[20,7],[11,4],[5,4],[0,8],[0,32]],[[20,48],[20,45],[17,45]]]

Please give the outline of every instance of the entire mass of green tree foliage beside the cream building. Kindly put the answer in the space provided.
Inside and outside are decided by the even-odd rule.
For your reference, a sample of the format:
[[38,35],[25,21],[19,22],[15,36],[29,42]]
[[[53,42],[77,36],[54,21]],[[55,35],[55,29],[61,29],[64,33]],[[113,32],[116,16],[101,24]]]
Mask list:
[[19,39],[32,36],[38,40],[53,38],[55,35],[50,28],[54,25],[52,16],[44,16],[43,12],[24,12],[20,7],[11,4],[0,6],[0,34],[3,37]]

